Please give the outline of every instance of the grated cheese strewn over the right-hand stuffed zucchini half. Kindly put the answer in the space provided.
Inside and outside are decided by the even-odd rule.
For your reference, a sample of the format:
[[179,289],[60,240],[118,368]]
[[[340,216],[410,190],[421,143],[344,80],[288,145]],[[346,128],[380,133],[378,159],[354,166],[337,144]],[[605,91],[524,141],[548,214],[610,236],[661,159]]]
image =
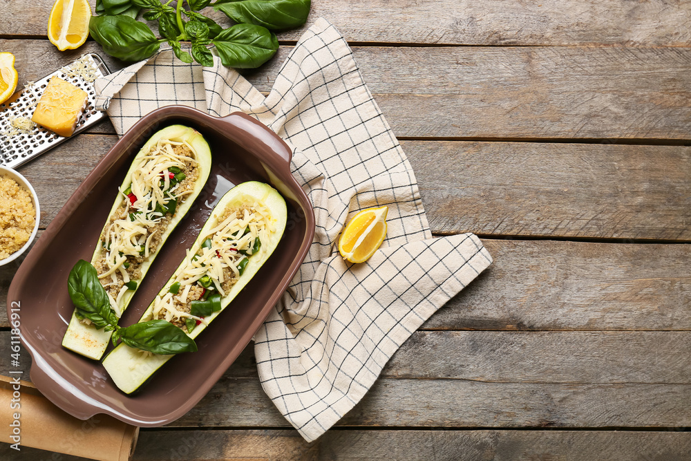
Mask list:
[[[238,218],[238,214],[241,217]],[[205,236],[200,236],[200,241],[211,238],[211,246],[200,248],[196,253],[198,256],[196,259],[193,259],[194,255],[187,250],[185,259],[187,263],[173,281],[173,283],[180,282],[179,294],[166,292],[162,296],[158,295],[153,304],[154,319],[160,318],[160,314],[163,313],[167,321],[187,317],[206,325],[206,319],[184,312],[176,305],[187,304],[190,289],[205,275],[209,276],[214,289],[223,299],[226,295],[223,290],[225,282],[235,283],[240,276],[238,265],[244,258],[254,256],[252,247],[255,238],[259,238],[261,243],[266,244],[271,234],[276,232],[276,220],[272,218],[269,208],[263,203],[255,202],[252,206],[243,207],[240,210],[227,209],[225,213],[217,216],[223,220],[210,229]],[[249,232],[242,235],[245,229],[249,229]],[[240,236],[237,237],[238,235]],[[264,249],[265,246],[262,245],[258,253],[265,251]],[[249,255],[241,254],[240,250],[245,250]]]

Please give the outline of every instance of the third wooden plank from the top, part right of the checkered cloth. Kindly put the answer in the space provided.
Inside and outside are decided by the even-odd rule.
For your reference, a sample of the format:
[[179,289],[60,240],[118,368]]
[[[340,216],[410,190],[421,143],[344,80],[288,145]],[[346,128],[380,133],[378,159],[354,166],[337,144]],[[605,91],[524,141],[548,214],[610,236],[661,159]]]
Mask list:
[[691,147],[401,145],[439,234],[691,241]]

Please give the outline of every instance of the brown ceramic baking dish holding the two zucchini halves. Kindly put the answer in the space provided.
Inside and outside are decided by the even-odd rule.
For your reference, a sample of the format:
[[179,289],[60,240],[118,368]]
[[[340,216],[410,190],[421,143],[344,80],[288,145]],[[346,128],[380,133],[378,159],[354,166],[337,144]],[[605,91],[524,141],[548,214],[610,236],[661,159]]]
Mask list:
[[[211,147],[209,181],[151,266],[120,325],[135,323],[195,240],[216,201],[247,180],[272,184],[286,199],[288,222],[278,248],[196,342],[198,352],[173,357],[133,395],[120,392],[100,362],[61,346],[73,312],[67,276],[79,258],[91,260],[117,187],[149,137],[171,124],[200,131]],[[249,344],[296,274],[314,236],[314,210],[290,173],[292,152],[266,126],[242,113],[211,117],[167,106],[133,126],[84,180],[17,270],[8,314],[21,309],[21,340],[33,361],[32,382],[48,399],[81,419],[107,413],[136,426],[160,426],[187,413]],[[107,352],[106,352],[107,353]]]

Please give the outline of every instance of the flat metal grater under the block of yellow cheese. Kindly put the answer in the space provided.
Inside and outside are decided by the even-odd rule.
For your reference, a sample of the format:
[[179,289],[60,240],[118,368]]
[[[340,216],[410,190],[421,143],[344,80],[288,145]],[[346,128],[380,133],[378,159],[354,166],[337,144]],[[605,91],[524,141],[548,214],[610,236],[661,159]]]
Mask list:
[[88,126],[91,126],[106,116],[105,112],[95,110],[96,91],[93,82],[88,82],[79,75],[68,75],[67,72],[72,66],[77,66],[80,59],[86,59],[86,63],[93,66],[96,77],[103,77],[108,75],[110,70],[103,62],[103,59],[95,53],[84,55],[77,59],[72,64],[68,64],[59,70],[56,70],[50,75],[38,80],[33,85],[17,91],[6,102],[0,104],[0,164],[4,167],[17,168],[19,165],[28,162],[32,158],[40,156],[41,153],[53,149],[61,142],[67,140],[60,135],[48,131],[42,126],[34,126],[30,133],[17,132],[18,130],[12,127],[12,121],[17,120],[17,117],[26,117],[31,120],[34,113],[36,102],[43,95],[48,80],[51,77],[57,76],[61,79],[70,82],[86,91],[86,109],[82,112],[77,122],[75,134],[84,131]]

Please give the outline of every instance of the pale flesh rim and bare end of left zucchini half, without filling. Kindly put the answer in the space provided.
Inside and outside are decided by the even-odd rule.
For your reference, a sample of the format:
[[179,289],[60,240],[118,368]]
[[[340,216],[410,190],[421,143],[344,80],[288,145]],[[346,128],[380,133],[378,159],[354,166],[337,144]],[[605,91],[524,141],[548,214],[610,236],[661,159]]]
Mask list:
[[[125,191],[131,185],[131,176],[136,167],[136,160],[138,160],[142,156],[146,156],[151,151],[151,149],[155,147],[158,141],[162,139],[171,140],[173,142],[187,142],[187,144],[189,144],[189,146],[191,146],[193,151],[196,153],[198,174],[194,183],[195,185],[192,193],[189,194],[187,198],[185,198],[184,202],[176,208],[173,214],[173,218],[171,219],[167,227],[167,230],[161,236],[160,243],[158,244],[156,251],[153,252],[153,254],[149,256],[149,258],[144,259],[144,261],[140,264],[139,267],[141,277],[140,279],[135,280],[138,285],[140,284],[142,279],[144,279],[144,276],[146,276],[146,272],[149,270],[149,267],[151,267],[151,263],[153,263],[153,260],[155,259],[156,255],[158,255],[158,253],[160,252],[161,247],[162,245],[164,245],[168,236],[171,234],[171,232],[173,232],[173,229],[175,229],[175,227],[178,225],[178,223],[184,217],[184,215],[187,214],[187,211],[189,211],[189,209],[191,208],[194,199],[202,191],[204,185],[207,182],[207,179],[209,178],[209,173],[211,172],[211,149],[209,149],[209,144],[207,144],[203,136],[200,133],[198,133],[198,131],[191,129],[187,126],[171,125],[167,126],[166,128],[158,131],[153,136],[151,136],[149,141],[147,141],[146,144],[144,144],[144,147],[140,149],[140,151],[137,153],[137,155],[132,161],[132,166],[125,175],[125,179],[122,182],[122,186],[120,189],[121,191]],[[113,203],[113,207],[111,207],[111,211],[108,214],[108,219],[106,219],[106,223],[104,224],[102,232],[104,232],[106,226],[108,226],[108,223],[110,222],[111,216],[113,216],[115,211],[117,211],[117,209],[122,205],[122,202],[122,195],[118,194],[117,198],[115,199],[115,202]],[[99,260],[99,258],[102,256],[102,252],[103,247],[99,237],[96,249],[93,252],[93,256],[91,258],[92,265]],[[122,295],[121,312],[116,312],[118,317],[120,317],[122,312],[124,312],[124,310],[129,305],[132,297],[134,296],[135,291],[136,290],[127,290]],[[82,323],[82,321],[79,321],[79,319],[77,318],[75,310],[75,312],[73,312],[72,314],[72,318],[70,319],[70,324],[67,328],[67,331],[65,332],[65,336],[62,339],[62,345],[65,348],[73,350],[74,352],[84,355],[85,357],[88,357],[90,359],[100,360],[103,356],[103,353],[106,351],[106,346],[108,346],[108,341],[110,341],[112,334],[113,332],[97,330],[93,325]]]

